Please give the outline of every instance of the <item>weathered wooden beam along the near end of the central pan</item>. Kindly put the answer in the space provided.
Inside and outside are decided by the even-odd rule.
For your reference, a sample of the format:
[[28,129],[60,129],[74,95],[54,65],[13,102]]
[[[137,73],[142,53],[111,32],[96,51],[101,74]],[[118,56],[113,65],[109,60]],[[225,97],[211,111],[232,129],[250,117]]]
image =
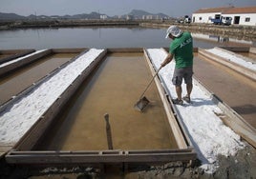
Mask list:
[[164,150],[99,150],[99,151],[11,151],[6,156],[9,164],[43,167],[82,165],[164,165],[169,162],[188,163],[196,159],[191,149]]

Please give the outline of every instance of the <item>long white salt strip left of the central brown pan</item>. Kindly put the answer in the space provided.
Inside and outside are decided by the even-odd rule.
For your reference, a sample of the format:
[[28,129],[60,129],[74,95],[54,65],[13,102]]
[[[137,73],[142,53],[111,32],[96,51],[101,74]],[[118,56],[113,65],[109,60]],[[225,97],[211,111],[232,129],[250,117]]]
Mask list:
[[0,143],[14,144],[103,50],[91,49],[0,114]]

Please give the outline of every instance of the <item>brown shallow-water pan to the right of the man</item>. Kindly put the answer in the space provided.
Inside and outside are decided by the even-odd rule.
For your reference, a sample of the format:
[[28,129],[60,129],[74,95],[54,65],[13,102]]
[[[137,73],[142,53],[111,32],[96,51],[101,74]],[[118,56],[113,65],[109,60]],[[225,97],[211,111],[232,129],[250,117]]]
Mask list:
[[[195,76],[256,128],[256,83],[202,55],[194,58]],[[193,96],[193,91],[192,91]]]

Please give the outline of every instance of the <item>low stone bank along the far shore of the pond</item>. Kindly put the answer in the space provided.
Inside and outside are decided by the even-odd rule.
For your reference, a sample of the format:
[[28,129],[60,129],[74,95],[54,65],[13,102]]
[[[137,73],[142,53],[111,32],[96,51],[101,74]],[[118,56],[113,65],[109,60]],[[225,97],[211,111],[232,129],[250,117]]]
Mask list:
[[41,21],[22,21],[22,22],[7,22],[4,25],[0,24],[0,30],[20,29],[20,28],[61,28],[61,27],[146,27],[146,28],[163,28],[167,29],[170,25],[177,25],[181,30],[188,30],[191,32],[200,32],[204,34],[216,34],[224,37],[231,37],[236,39],[244,39],[249,41],[256,41],[256,27],[255,26],[222,26],[212,24],[181,24],[174,21],[162,20],[41,20]]

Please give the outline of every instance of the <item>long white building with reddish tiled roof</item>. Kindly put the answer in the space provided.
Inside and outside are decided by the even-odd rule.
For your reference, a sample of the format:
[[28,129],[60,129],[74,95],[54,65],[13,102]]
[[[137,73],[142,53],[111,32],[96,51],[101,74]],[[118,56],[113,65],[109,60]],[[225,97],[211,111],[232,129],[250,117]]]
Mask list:
[[194,23],[212,23],[211,19],[231,17],[231,24],[256,26],[256,7],[245,8],[213,8],[197,10],[192,14],[192,22]]

